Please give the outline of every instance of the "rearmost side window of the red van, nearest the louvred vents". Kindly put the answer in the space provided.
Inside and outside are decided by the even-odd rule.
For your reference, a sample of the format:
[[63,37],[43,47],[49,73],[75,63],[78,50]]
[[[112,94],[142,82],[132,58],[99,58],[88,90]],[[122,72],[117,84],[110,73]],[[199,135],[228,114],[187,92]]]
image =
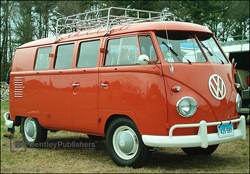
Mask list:
[[49,54],[52,47],[39,48],[36,55],[35,70],[49,69],[50,57]]

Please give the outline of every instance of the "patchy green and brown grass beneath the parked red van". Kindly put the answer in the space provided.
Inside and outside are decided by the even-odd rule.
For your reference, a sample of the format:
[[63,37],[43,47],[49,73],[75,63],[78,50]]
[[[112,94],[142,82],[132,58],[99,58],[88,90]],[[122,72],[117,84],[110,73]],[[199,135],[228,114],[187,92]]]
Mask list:
[[15,139],[3,137],[6,111],[8,103],[1,103],[1,173],[249,173],[249,118],[246,141],[221,144],[206,157],[188,156],[180,148],[160,148],[144,167],[133,169],[116,166],[105,142],[90,140],[85,134],[49,132],[43,147],[25,148],[19,143],[18,127]]

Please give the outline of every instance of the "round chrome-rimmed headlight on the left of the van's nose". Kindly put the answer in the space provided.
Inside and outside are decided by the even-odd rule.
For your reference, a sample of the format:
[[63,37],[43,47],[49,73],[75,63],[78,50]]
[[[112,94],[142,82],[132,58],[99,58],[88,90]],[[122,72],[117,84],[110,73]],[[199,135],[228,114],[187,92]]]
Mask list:
[[197,103],[192,97],[183,97],[176,104],[178,113],[183,117],[193,116],[197,111],[197,107]]

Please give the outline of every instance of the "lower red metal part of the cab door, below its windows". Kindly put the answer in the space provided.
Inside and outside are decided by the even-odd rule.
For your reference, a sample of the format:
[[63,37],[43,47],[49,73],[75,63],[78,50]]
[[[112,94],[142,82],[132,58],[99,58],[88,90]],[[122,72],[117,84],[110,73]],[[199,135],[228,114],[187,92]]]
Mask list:
[[[166,134],[167,105],[164,80],[155,65],[100,69],[100,115],[126,111],[141,133]],[[149,129],[150,128],[150,129]]]

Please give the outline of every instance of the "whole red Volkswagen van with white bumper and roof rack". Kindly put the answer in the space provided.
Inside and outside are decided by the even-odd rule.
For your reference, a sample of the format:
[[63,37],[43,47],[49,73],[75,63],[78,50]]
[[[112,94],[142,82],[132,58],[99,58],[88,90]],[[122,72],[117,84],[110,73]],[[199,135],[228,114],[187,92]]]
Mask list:
[[170,17],[111,7],[59,19],[56,37],[17,48],[6,124],[21,125],[27,146],[50,129],[105,137],[112,160],[132,167],[155,147],[209,155],[245,140],[234,69],[214,34]]

